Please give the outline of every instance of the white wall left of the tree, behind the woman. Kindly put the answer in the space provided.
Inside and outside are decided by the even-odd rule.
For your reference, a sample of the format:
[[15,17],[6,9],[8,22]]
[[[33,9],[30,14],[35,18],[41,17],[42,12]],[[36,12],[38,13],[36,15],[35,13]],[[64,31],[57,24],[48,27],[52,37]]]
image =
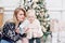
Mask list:
[[13,11],[18,3],[20,0],[0,0],[0,6],[4,8],[3,23],[13,17]]

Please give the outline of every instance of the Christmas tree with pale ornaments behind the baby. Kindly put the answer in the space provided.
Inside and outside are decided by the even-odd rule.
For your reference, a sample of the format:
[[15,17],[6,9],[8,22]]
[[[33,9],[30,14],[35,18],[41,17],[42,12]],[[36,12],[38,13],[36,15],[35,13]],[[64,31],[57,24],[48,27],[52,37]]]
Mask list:
[[24,9],[26,11],[28,11],[29,9],[34,9],[36,11],[36,16],[39,19],[40,25],[43,29],[44,38],[47,38],[50,30],[50,16],[48,14],[48,10],[46,9],[44,1],[46,0],[24,0],[21,3],[22,5],[24,5]]

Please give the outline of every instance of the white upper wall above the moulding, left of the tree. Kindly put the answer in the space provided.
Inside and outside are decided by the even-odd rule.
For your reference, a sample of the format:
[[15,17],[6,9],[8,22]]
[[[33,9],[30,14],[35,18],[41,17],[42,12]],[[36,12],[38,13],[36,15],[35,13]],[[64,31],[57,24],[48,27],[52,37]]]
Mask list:
[[0,0],[0,6],[15,8],[20,3],[20,0]]

